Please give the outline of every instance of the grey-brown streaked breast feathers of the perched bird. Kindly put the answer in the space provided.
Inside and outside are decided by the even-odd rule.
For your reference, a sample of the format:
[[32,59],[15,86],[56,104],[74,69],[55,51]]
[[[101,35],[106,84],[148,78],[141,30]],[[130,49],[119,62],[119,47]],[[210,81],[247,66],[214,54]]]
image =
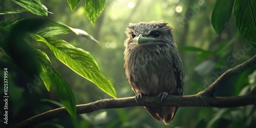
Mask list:
[[125,68],[127,78],[136,94],[175,94],[176,80],[171,52],[147,50],[146,47],[131,52],[132,55],[125,62]]

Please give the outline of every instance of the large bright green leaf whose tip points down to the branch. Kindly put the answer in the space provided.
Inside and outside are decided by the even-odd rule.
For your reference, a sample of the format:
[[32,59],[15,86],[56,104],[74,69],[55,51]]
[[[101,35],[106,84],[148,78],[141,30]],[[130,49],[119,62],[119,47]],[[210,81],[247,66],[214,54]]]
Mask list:
[[30,35],[37,41],[45,42],[54,55],[74,72],[90,80],[102,91],[116,98],[113,84],[101,74],[96,61],[89,52],[75,48],[61,39],[44,38],[37,34]]

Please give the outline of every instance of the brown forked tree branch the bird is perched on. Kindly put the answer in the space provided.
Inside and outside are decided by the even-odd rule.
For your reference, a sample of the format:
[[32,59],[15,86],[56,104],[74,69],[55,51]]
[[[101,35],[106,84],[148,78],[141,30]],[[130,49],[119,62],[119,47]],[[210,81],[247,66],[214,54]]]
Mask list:
[[[206,106],[206,107],[225,107],[231,108],[236,106],[245,106],[249,104],[256,105],[256,87],[244,96],[215,97],[213,94],[222,86],[222,84],[231,76],[241,73],[242,71],[256,64],[256,55],[245,61],[239,66],[227,70],[206,90],[196,95],[175,96],[168,95],[164,101],[160,101],[157,96],[143,96],[139,103],[135,97],[102,99],[95,102],[76,105],[77,114],[91,113],[103,109],[127,108],[131,106]],[[30,127],[40,122],[68,115],[65,108],[54,109],[41,113],[27,120],[24,120],[12,127]]]

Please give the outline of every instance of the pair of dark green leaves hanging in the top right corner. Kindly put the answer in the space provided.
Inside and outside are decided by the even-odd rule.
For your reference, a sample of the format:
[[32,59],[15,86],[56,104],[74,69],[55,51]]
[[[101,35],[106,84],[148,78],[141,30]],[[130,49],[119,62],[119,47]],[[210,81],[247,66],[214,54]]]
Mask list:
[[256,2],[250,1],[221,1],[215,4],[211,15],[212,26],[217,34],[224,29],[234,6],[234,22],[244,41],[256,49]]

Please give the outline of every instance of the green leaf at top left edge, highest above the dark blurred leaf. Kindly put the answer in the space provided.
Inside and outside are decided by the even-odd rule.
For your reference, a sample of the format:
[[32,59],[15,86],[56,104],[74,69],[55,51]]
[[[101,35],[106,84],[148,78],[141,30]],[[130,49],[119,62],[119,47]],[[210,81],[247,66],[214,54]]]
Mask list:
[[12,0],[19,6],[29,10],[31,13],[40,15],[40,16],[48,16],[48,9],[41,4],[39,0]]

